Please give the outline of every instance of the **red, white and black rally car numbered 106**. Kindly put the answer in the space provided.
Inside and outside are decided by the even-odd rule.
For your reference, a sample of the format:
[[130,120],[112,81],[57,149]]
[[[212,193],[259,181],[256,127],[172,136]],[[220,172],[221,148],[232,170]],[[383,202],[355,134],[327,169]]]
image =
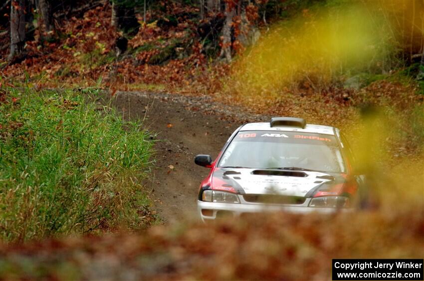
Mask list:
[[202,182],[198,211],[203,221],[264,210],[334,212],[352,210],[363,178],[352,172],[349,144],[339,129],[274,117],[247,123],[229,137]]

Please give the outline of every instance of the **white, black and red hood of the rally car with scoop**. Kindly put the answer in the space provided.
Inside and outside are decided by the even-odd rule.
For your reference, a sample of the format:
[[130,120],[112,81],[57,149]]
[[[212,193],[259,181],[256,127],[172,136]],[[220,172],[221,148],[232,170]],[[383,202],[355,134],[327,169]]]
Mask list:
[[318,188],[344,182],[343,174],[309,171],[216,168],[212,175],[212,189],[232,187],[239,194],[311,197]]

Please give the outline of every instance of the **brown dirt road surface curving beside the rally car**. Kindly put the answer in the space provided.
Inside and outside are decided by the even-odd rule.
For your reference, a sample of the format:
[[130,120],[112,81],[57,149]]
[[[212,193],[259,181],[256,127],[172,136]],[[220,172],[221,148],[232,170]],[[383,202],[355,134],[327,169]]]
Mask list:
[[209,169],[195,165],[197,154],[215,159],[241,124],[269,117],[213,102],[209,97],[117,92],[112,105],[157,134],[156,168],[146,183],[166,223],[196,219],[197,193]]

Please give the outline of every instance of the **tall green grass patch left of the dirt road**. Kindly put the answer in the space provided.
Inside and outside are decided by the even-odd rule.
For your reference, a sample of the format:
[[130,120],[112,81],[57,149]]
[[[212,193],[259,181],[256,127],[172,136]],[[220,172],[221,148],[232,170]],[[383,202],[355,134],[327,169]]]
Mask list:
[[140,123],[72,91],[0,91],[1,240],[155,222],[140,184],[153,142]]

